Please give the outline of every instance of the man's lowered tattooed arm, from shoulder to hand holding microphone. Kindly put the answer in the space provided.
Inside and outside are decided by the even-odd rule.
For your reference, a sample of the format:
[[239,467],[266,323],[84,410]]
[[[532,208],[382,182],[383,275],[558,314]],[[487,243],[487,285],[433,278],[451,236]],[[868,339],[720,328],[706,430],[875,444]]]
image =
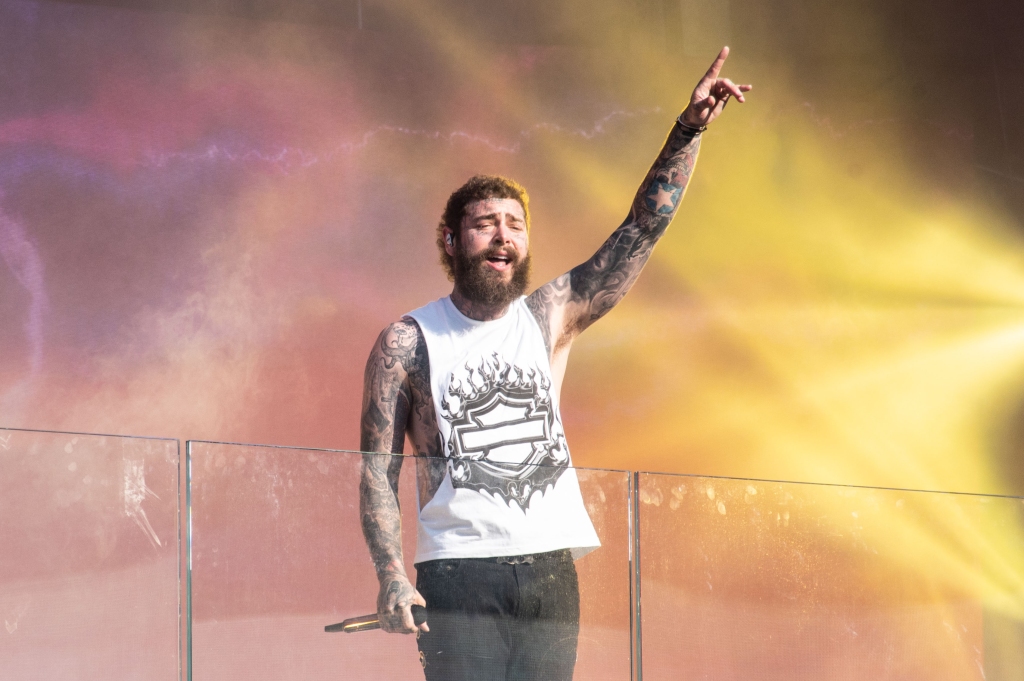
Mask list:
[[411,606],[426,605],[406,574],[401,555],[401,512],[398,474],[406,428],[413,405],[413,383],[426,369],[426,344],[413,322],[396,322],[374,345],[362,385],[359,449],[359,516],[362,535],[377,570],[380,592],[377,614],[388,632],[412,634],[423,629],[413,623]]

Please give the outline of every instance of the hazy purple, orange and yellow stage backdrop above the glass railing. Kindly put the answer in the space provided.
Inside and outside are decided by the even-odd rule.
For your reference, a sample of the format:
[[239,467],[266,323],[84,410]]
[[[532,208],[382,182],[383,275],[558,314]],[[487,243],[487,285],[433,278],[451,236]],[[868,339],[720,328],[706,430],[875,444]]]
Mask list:
[[561,273],[728,43],[755,90],[577,343],[577,463],[1024,493],[1021,13],[0,0],[0,425],[354,449],[447,194],[523,182]]

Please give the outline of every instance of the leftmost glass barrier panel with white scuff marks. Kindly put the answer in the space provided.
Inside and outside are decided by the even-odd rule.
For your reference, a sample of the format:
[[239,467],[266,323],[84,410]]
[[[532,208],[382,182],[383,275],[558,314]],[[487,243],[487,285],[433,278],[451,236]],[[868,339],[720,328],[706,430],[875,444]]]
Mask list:
[[0,678],[180,678],[177,441],[0,429]]

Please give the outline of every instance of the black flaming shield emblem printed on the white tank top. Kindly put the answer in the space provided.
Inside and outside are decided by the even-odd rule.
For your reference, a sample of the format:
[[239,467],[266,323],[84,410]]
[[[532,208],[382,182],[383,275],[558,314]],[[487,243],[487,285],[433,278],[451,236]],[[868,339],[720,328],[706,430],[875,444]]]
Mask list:
[[553,485],[569,461],[551,382],[497,354],[465,369],[453,376],[441,400],[452,424],[445,448],[452,484],[525,508],[530,495]]

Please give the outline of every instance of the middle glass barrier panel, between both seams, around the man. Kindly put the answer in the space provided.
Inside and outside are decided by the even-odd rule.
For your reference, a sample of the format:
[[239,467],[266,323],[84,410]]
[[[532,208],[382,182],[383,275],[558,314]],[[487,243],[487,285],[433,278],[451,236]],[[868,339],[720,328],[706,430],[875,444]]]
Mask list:
[[[191,679],[424,678],[413,636],[325,632],[377,607],[358,512],[362,455],[193,441],[188,456]],[[402,549],[415,583],[418,459],[398,459]],[[626,680],[630,478],[622,471],[575,474],[601,543],[574,561],[577,678]],[[428,626],[430,618],[428,609]]]

